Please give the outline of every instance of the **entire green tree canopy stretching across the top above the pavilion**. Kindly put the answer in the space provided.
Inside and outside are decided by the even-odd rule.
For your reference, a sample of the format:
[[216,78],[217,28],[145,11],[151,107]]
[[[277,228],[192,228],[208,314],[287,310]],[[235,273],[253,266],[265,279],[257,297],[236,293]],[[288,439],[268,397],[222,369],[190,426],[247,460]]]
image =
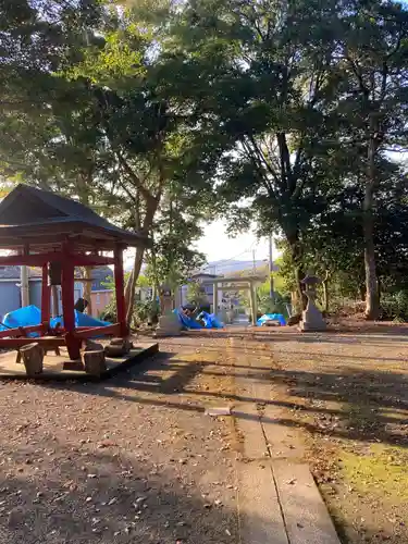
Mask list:
[[0,21],[0,175],[152,235],[128,308],[143,260],[181,281],[215,215],[281,236],[298,292],[353,276],[376,318],[405,288],[403,4],[2,0]]

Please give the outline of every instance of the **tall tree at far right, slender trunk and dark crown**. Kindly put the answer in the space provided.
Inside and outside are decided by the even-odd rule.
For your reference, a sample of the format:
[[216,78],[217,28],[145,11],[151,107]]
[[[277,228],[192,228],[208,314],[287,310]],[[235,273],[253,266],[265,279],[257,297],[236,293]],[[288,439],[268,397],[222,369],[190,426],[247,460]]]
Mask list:
[[342,141],[354,148],[348,151],[358,151],[355,169],[363,173],[366,314],[375,319],[380,312],[375,194],[381,190],[379,165],[386,151],[406,143],[408,10],[392,0],[350,1],[339,22],[339,109],[346,119]]

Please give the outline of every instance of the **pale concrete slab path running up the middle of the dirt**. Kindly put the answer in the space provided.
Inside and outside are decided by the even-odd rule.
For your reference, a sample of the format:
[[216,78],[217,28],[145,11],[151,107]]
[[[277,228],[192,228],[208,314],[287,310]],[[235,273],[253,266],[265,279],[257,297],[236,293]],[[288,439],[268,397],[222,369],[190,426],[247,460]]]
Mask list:
[[302,462],[300,435],[281,422],[283,410],[273,404],[273,385],[264,380],[270,356],[234,349],[234,338],[230,349],[236,391],[246,398],[233,410],[243,441],[237,468],[242,544],[339,544],[309,467]]

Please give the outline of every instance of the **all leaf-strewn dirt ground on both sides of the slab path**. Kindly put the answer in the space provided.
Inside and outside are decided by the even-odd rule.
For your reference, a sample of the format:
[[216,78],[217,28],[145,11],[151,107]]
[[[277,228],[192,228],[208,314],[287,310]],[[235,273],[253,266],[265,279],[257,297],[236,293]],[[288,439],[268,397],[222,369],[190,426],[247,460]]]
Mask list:
[[240,438],[206,410],[257,400],[243,351],[342,541],[406,544],[408,329],[347,327],[191,333],[101,383],[0,382],[0,544],[238,543]]

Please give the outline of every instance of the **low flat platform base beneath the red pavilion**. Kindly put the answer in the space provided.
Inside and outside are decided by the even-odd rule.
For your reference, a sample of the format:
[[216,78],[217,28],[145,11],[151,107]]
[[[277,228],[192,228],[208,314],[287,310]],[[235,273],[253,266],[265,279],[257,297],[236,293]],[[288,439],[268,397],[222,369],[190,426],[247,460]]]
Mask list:
[[0,355],[0,380],[81,380],[84,382],[106,380],[159,351],[159,344],[153,342],[136,341],[136,345],[137,347],[124,357],[107,357],[108,370],[100,378],[82,371],[63,370],[63,363],[70,360],[64,348],[61,349],[61,356],[49,351],[44,358],[42,374],[28,378],[24,364],[15,362],[17,353],[8,351]]

